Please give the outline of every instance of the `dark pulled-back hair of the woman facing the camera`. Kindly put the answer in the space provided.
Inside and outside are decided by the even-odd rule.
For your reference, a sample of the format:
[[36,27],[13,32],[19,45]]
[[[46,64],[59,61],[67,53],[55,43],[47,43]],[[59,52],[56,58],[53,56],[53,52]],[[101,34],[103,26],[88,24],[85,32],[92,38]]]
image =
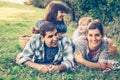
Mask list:
[[98,29],[102,36],[104,36],[104,29],[100,21],[94,20],[88,25],[88,30]]

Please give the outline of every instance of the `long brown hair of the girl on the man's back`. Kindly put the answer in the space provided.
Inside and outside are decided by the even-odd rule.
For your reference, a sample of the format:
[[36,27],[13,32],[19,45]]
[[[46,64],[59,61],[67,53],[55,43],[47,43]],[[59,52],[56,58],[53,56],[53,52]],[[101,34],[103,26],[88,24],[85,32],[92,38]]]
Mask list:
[[60,1],[51,1],[46,7],[45,20],[55,22],[59,10],[66,12],[67,7]]

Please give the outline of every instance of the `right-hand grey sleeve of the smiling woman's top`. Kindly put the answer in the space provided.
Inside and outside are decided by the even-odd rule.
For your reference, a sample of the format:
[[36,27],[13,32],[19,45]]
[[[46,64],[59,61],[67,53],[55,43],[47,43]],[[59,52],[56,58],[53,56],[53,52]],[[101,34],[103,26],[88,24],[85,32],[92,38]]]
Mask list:
[[108,42],[103,40],[102,44],[101,44],[101,53],[99,55],[99,60],[98,62],[104,62],[107,63],[108,62]]

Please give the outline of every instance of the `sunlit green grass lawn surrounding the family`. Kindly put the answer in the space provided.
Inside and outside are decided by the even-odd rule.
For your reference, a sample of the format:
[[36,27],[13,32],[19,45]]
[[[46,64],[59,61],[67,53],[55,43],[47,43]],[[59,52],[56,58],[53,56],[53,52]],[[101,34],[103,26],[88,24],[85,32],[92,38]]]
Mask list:
[[[0,80],[120,80],[120,71],[103,73],[82,66],[63,73],[41,74],[28,66],[15,64],[15,56],[22,51],[19,37],[31,34],[31,27],[43,14],[43,9],[0,1]],[[74,30],[68,28],[69,37]],[[119,55],[111,58],[120,60]]]

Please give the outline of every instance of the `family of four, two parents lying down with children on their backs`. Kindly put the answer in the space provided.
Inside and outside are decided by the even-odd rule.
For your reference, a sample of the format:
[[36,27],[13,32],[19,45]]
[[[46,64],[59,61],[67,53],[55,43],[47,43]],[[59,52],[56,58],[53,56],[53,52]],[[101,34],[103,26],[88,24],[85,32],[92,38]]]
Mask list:
[[119,69],[119,62],[108,59],[109,47],[113,43],[104,37],[101,22],[81,18],[73,38],[69,39],[63,20],[65,12],[66,6],[59,1],[48,4],[45,18],[36,22],[36,28],[32,29],[35,34],[17,55],[16,63],[41,73],[66,71],[77,64],[101,70]]

